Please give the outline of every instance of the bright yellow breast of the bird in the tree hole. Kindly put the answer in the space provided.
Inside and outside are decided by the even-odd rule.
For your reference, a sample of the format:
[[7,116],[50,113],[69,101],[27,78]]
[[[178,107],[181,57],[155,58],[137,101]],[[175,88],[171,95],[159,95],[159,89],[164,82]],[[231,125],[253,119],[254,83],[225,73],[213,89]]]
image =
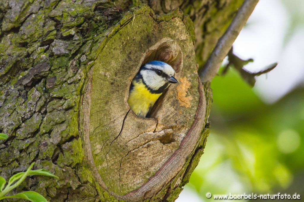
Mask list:
[[130,108],[137,116],[146,117],[162,93],[150,93],[141,80],[139,82],[132,81],[132,84],[134,88],[130,91],[128,98]]

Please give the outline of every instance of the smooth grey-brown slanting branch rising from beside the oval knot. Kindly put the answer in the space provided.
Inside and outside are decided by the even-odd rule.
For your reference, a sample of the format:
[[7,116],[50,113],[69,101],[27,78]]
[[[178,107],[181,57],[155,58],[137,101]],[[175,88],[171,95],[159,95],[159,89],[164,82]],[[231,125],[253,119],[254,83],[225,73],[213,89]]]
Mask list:
[[228,54],[241,29],[245,26],[258,1],[259,0],[245,0],[241,5],[225,33],[219,38],[216,47],[213,49],[205,65],[199,70],[199,76],[202,82],[211,81],[217,74],[219,66]]

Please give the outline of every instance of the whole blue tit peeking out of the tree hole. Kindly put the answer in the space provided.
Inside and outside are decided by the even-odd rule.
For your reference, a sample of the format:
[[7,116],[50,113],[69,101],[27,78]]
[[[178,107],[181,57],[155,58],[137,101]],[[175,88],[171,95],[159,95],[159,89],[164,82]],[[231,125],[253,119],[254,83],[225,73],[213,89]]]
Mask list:
[[177,83],[174,69],[165,62],[151,61],[142,65],[130,86],[128,103],[133,112],[146,117],[170,83]]

